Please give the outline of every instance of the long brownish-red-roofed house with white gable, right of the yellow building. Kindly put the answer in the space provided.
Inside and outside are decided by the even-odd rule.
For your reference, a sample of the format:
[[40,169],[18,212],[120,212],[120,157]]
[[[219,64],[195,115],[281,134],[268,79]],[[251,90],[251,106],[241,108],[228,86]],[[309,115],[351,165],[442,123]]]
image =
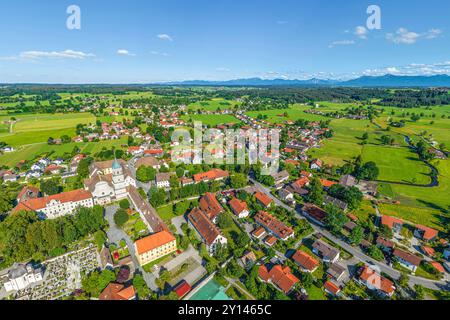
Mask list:
[[194,208],[188,214],[188,221],[200,235],[210,255],[216,252],[219,245],[227,245],[227,238],[222,235],[219,228],[199,208]]

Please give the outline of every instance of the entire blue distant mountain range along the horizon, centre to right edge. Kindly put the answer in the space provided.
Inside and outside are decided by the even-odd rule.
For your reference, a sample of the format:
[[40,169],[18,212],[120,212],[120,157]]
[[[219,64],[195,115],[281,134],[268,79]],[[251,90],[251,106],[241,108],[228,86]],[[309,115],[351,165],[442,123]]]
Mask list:
[[168,82],[164,85],[184,86],[292,86],[292,87],[450,87],[450,76],[364,76],[348,81],[338,80],[287,80],[287,79],[261,79],[248,78],[228,81],[188,80],[181,82]]

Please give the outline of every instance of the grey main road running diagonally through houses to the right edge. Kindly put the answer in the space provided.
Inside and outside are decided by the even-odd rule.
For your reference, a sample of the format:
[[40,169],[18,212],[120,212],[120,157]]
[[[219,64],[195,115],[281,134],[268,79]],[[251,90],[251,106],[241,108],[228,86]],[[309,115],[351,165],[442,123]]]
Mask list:
[[[283,207],[283,208],[285,208],[288,211],[293,211],[301,219],[305,219],[303,217],[303,215],[301,215],[301,213],[299,213],[298,211],[292,209],[291,207],[286,205],[284,202],[282,202],[278,198],[274,197],[270,193],[270,189],[268,187],[260,184],[259,182],[255,181],[255,180],[253,180],[251,178],[250,178],[250,181],[252,181],[255,184],[255,186],[258,187],[258,189],[260,189],[267,196],[269,196],[278,206]],[[332,235],[330,232],[328,232],[325,228],[322,228],[322,227],[317,226],[317,225],[312,224],[312,223],[311,223],[311,225],[312,225],[313,229],[316,232],[320,232],[325,237],[327,237],[328,239],[332,240],[333,242],[335,242],[336,244],[341,246],[344,250],[346,250],[349,253],[351,253],[359,261],[364,262],[364,263],[370,263],[372,265],[377,266],[379,268],[380,272],[384,272],[384,273],[388,274],[389,276],[391,276],[394,279],[398,279],[400,277],[401,273],[399,271],[395,270],[394,268],[388,266],[385,263],[382,263],[382,262],[379,262],[379,261],[376,261],[376,260],[372,259],[371,257],[367,256],[364,252],[362,252],[359,248],[352,247],[351,245],[349,245],[345,241],[342,241],[341,239],[336,238],[334,235]],[[450,285],[446,281],[435,281],[435,280],[429,280],[429,279],[420,278],[420,277],[416,277],[416,276],[409,276],[409,284],[410,284],[411,287],[414,287],[414,285],[417,284],[417,285],[421,285],[421,286],[424,286],[425,288],[429,288],[429,289],[432,289],[432,290],[450,290]]]

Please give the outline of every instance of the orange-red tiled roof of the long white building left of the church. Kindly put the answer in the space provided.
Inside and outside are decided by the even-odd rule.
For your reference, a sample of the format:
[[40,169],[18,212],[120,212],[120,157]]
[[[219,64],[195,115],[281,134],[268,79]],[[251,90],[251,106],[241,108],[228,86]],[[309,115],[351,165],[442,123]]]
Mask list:
[[84,189],[78,189],[68,192],[55,194],[53,196],[47,196],[43,198],[29,199],[21,202],[13,209],[13,212],[25,210],[25,211],[38,211],[47,206],[47,204],[53,200],[61,203],[66,202],[78,202],[92,198],[92,194]]

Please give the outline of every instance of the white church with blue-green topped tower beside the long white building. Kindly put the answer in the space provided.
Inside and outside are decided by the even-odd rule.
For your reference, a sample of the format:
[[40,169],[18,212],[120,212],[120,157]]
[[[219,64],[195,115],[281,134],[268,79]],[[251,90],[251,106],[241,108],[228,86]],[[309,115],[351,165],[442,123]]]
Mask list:
[[128,187],[136,187],[128,164],[124,160],[94,162],[89,168],[89,179],[84,181],[92,193],[94,204],[106,205],[128,197]]

